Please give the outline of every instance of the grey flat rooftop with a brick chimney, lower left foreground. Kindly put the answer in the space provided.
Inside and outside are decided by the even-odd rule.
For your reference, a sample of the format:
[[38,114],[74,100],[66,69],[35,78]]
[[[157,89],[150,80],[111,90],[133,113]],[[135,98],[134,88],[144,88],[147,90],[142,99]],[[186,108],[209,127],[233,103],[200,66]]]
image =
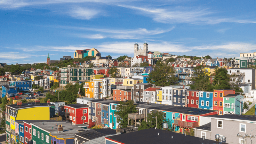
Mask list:
[[[41,129],[44,129],[50,132],[51,135],[54,135],[59,139],[75,138],[76,133],[78,133],[81,130],[84,130],[83,128],[78,127],[76,125],[68,124],[66,122],[61,122],[61,121],[45,122],[44,124],[43,123],[31,123],[31,124],[36,125],[37,127],[40,127]],[[58,125],[61,125],[61,124],[63,127],[63,132],[58,132]]]

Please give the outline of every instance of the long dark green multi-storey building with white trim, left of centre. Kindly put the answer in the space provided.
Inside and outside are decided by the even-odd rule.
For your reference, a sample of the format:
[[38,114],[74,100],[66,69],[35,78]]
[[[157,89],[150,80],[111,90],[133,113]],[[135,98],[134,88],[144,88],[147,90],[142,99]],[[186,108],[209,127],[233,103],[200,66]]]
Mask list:
[[69,82],[90,80],[93,68],[60,68],[60,86]]

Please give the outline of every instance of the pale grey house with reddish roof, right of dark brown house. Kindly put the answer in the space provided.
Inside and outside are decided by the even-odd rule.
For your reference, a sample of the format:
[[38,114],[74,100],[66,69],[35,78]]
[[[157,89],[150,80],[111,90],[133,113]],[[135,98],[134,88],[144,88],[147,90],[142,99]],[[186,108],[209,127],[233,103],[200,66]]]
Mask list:
[[156,97],[156,90],[158,90],[160,88],[155,88],[155,87],[149,87],[145,90],[143,90],[143,101],[144,102],[150,102],[150,103],[155,103],[155,101],[157,100],[157,97]]

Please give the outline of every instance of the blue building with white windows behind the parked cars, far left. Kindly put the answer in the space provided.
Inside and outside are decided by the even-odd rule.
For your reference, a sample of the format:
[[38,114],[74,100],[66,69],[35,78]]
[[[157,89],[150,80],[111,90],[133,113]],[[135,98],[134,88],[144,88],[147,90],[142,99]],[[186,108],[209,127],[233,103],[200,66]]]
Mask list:
[[22,81],[10,81],[10,86],[15,86],[18,89],[18,92],[24,92],[32,90],[31,80],[22,80]]

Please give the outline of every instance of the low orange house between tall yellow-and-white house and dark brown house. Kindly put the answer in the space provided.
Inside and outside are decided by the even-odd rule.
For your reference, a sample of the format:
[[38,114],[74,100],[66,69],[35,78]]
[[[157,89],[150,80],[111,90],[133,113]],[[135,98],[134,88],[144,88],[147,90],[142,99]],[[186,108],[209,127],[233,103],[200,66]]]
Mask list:
[[132,100],[132,91],[126,89],[115,89],[113,90],[113,100],[122,101],[122,100]]

